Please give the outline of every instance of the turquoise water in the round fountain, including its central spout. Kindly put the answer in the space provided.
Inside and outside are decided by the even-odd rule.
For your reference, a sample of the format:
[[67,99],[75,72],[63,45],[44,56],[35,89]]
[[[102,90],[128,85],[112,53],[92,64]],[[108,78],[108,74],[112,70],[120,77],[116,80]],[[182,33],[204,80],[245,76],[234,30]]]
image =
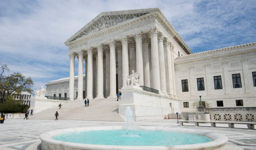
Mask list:
[[208,137],[183,132],[162,130],[132,130],[134,114],[131,108],[126,108],[125,130],[93,130],[71,132],[54,136],[53,139],[96,145],[125,145],[125,146],[161,146],[187,145],[212,141]]

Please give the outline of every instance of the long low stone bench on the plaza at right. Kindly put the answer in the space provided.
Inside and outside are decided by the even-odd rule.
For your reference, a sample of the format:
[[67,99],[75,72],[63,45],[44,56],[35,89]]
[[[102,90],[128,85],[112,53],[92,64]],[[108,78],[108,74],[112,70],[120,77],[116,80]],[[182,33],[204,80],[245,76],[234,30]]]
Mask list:
[[216,124],[228,124],[229,128],[234,128],[234,124],[247,124],[248,129],[255,129],[254,125],[256,122],[231,122],[231,121],[180,121],[180,125],[183,126],[183,123],[194,123],[195,126],[199,126],[199,123],[210,123],[211,127],[216,127]]

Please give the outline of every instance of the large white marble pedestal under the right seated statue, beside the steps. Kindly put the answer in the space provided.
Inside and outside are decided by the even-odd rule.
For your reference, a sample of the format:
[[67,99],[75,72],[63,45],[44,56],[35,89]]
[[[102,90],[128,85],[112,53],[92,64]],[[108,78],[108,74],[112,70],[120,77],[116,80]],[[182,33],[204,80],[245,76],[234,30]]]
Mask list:
[[180,112],[177,99],[169,98],[142,90],[138,86],[124,86],[122,92],[122,104],[118,112],[125,117],[125,109],[130,106],[135,121],[164,119],[164,115]]

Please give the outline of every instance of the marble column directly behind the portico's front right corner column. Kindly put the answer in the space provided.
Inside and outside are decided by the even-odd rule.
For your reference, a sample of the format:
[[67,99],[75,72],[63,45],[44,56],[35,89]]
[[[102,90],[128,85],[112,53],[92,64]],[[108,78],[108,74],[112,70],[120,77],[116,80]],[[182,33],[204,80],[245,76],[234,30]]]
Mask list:
[[158,36],[158,52],[159,52],[159,70],[160,70],[160,88],[163,94],[166,93],[166,72],[165,72],[165,63],[164,63],[164,44],[163,36],[160,34]]

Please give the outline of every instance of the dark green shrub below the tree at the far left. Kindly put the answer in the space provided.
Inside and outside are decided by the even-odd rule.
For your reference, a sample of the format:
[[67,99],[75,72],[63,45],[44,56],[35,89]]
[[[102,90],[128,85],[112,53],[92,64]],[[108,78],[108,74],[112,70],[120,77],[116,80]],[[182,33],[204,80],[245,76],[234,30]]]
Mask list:
[[0,112],[4,113],[25,113],[30,106],[21,104],[21,101],[6,100],[0,103]]

